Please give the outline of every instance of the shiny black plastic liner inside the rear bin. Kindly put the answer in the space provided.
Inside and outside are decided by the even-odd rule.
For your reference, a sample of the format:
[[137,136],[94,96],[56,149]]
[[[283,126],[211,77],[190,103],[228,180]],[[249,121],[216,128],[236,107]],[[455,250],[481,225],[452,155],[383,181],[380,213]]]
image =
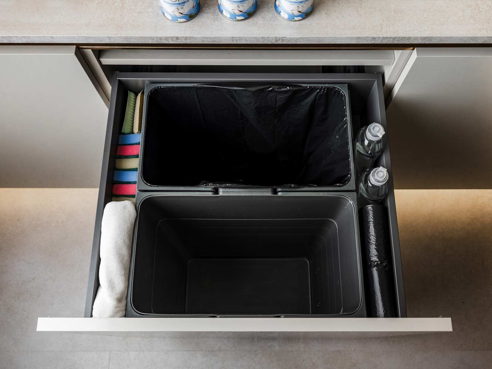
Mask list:
[[147,98],[142,179],[151,186],[342,186],[346,96],[333,86],[158,86]]

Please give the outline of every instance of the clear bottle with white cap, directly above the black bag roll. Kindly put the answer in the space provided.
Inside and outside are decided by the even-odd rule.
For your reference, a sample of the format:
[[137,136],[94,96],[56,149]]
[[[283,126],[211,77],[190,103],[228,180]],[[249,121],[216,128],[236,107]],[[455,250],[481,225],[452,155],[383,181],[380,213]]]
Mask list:
[[381,203],[388,194],[388,171],[386,168],[369,168],[362,172],[357,181],[359,207]]

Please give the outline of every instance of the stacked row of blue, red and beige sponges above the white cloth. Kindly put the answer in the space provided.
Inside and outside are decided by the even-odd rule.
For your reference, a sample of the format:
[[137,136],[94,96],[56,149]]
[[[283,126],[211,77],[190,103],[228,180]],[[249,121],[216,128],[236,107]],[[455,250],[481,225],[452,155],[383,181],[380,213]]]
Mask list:
[[140,133],[121,134],[118,140],[116,169],[113,176],[113,201],[135,202],[139,153]]

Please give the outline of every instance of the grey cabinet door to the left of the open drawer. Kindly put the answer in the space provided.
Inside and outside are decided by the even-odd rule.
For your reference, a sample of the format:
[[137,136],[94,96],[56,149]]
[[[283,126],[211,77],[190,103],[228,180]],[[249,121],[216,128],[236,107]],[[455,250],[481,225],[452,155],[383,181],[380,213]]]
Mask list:
[[75,46],[0,46],[0,187],[97,187],[108,108]]

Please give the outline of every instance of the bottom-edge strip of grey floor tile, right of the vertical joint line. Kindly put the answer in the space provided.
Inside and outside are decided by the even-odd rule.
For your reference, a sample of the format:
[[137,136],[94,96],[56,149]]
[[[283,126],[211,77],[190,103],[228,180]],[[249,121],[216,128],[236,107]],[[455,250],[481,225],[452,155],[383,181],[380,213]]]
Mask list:
[[489,368],[491,351],[455,351],[422,354],[399,350],[374,352],[360,350],[335,351],[239,351],[239,352],[111,352],[110,369],[195,369],[195,368]]

